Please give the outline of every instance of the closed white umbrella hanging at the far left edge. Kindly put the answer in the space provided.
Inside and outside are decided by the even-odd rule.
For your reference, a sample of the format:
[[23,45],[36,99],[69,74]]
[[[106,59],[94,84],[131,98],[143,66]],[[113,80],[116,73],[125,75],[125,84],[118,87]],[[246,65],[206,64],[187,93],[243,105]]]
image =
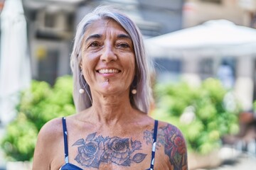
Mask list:
[[28,88],[31,67],[28,56],[26,20],[21,0],[6,0],[1,12],[0,121],[16,115],[18,94]]

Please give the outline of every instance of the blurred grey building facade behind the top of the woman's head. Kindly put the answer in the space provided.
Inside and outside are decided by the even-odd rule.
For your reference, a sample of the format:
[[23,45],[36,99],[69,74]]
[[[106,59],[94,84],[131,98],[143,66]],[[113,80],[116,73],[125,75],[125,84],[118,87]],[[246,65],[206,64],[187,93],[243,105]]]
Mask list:
[[86,13],[99,5],[124,9],[145,37],[179,30],[182,27],[183,0],[24,0],[28,21],[33,79],[54,84],[70,72],[70,53],[75,27]]

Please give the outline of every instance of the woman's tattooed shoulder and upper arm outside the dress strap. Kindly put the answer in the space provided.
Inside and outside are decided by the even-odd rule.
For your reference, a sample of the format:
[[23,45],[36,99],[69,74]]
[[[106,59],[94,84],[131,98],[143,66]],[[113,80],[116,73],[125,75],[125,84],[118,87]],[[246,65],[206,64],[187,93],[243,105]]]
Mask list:
[[188,169],[186,140],[181,130],[169,123],[159,121],[157,145],[164,149],[170,169]]

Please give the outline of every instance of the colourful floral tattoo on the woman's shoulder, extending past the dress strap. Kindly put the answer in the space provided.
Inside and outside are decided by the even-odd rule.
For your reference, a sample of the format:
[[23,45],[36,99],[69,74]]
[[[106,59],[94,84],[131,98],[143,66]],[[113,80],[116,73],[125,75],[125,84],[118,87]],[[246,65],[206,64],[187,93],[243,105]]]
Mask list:
[[[153,130],[144,132],[146,144],[152,143]],[[159,128],[156,142],[156,149],[164,146],[164,153],[169,157],[169,161],[174,170],[187,169],[186,142],[181,132],[173,125]]]

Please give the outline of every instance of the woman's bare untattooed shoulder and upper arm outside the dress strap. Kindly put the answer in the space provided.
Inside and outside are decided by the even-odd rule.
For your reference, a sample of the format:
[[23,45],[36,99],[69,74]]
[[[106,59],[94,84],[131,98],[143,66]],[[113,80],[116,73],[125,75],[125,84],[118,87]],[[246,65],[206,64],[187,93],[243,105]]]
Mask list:
[[63,130],[61,118],[55,118],[43,125],[38,133],[33,156],[33,169],[50,169],[50,164],[54,157],[53,154],[58,154],[55,149],[58,149],[60,146],[62,137]]

